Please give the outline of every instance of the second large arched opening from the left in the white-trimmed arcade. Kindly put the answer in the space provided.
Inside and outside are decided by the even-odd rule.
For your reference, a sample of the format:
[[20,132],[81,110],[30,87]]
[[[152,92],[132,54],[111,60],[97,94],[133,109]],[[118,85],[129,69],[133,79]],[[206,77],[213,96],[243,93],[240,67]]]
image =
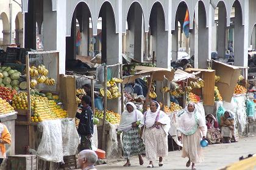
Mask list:
[[[119,47],[119,36],[116,33],[115,14],[110,2],[104,2],[98,16],[98,24],[102,23],[99,33],[101,38],[101,62],[107,64],[121,63],[121,47]],[[101,19],[100,19],[101,18]]]

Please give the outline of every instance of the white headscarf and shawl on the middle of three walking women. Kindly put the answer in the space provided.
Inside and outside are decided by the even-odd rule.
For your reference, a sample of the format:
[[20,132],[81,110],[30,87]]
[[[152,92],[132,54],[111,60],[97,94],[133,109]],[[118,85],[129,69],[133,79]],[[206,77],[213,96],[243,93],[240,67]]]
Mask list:
[[[154,103],[157,103],[157,101],[152,101]],[[168,131],[171,127],[171,120],[170,118],[168,117],[168,115],[165,114],[165,112],[163,112],[162,110],[160,110],[160,104],[158,104],[158,107],[157,107],[157,111],[156,112],[151,112],[151,110],[149,109],[145,114],[146,114],[146,117],[145,117],[145,114],[144,114],[144,118],[146,118],[146,123],[144,122],[144,118],[143,120],[141,121],[141,125],[140,126],[143,126],[145,125],[146,127],[152,127],[154,124],[155,124],[155,118],[157,118],[157,114],[159,112],[159,117],[158,117],[158,122],[159,123],[162,123],[162,124],[165,124],[163,125],[163,130],[166,132],[166,135],[168,135]]]

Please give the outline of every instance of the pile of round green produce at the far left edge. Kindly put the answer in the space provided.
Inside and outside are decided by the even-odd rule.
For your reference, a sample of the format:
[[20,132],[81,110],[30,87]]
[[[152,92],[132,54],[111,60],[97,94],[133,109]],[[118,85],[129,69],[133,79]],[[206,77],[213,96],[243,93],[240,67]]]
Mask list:
[[0,67],[0,86],[20,90],[20,75],[18,70],[12,70],[11,67]]

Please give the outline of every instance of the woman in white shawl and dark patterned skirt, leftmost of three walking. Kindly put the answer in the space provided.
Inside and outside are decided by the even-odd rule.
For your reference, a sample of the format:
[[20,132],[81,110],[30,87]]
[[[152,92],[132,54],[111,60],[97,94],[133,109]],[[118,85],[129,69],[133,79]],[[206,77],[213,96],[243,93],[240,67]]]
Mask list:
[[123,132],[123,152],[124,159],[127,160],[124,166],[130,166],[130,158],[138,155],[140,165],[143,165],[141,154],[145,153],[143,140],[140,138],[140,121],[143,120],[143,114],[132,102],[126,104],[126,110],[121,115],[121,121],[118,127],[118,137]]

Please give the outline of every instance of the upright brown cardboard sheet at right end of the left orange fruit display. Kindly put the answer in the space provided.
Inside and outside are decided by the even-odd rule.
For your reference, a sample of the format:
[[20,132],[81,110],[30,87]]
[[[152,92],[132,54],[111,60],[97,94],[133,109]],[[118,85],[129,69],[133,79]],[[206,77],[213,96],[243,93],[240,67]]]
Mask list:
[[60,75],[60,99],[64,109],[68,111],[68,117],[76,117],[76,78],[73,76]]

